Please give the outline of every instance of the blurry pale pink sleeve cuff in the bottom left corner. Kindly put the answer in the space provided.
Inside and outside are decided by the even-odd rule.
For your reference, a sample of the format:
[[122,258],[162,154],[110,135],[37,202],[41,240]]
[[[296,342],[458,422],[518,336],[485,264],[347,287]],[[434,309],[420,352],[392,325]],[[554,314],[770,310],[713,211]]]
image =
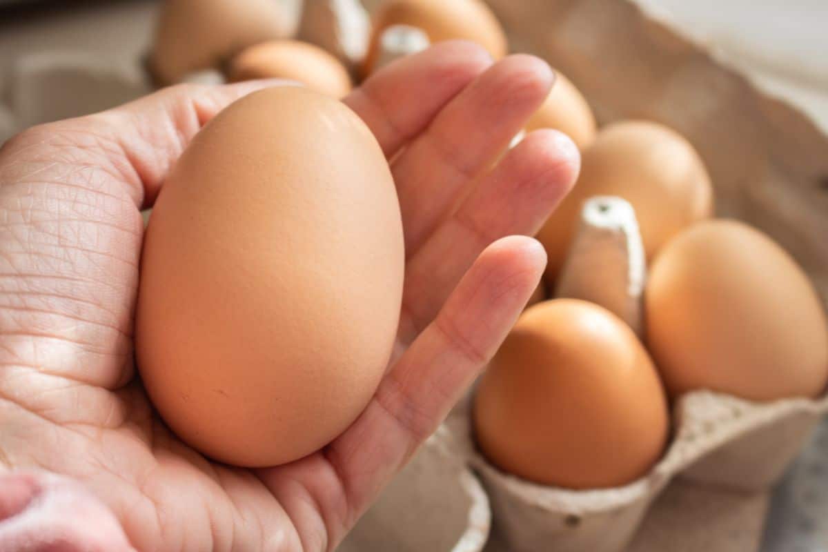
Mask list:
[[112,512],[75,481],[51,473],[6,473],[0,496],[7,492],[17,503],[0,515],[0,550],[134,552]]

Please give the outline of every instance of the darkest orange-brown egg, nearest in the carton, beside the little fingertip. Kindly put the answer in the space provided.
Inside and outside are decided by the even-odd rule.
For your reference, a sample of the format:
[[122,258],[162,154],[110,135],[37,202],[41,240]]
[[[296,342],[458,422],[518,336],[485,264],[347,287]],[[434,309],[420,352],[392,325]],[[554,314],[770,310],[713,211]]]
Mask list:
[[484,373],[474,428],[505,472],[556,487],[616,487],[661,458],[667,400],[627,324],[586,301],[551,300],[522,314]]

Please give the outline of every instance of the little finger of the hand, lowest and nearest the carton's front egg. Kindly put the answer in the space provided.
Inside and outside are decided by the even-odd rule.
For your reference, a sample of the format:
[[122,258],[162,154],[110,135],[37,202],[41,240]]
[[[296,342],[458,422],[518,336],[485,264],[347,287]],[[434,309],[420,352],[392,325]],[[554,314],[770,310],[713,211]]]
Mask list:
[[489,362],[545,266],[546,253],[532,238],[503,238],[490,245],[359,419],[326,449],[352,521]]

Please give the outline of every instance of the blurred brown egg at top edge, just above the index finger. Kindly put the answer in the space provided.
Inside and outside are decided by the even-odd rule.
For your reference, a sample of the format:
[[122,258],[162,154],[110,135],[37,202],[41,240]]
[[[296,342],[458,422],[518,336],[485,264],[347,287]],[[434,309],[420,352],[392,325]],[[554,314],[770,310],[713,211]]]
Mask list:
[[390,0],[373,16],[371,41],[363,74],[374,70],[383,31],[392,25],[409,25],[426,31],[431,44],[452,39],[477,42],[495,58],[506,55],[508,45],[503,27],[484,2],[479,0]]

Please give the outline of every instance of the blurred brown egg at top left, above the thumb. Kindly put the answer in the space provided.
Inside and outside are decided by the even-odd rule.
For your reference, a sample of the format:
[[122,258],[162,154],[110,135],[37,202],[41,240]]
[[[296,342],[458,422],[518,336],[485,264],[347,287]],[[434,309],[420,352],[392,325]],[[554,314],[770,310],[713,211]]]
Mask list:
[[149,69],[157,84],[218,68],[247,46],[286,38],[296,30],[286,2],[166,0],[161,2]]

